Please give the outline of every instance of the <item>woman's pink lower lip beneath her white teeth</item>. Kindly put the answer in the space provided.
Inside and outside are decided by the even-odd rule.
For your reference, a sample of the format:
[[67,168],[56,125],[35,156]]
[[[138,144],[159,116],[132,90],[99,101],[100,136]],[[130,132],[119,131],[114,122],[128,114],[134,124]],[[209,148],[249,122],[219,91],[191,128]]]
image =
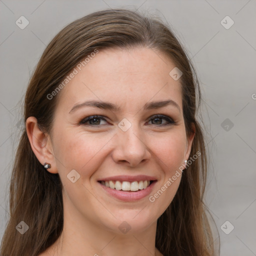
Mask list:
[[120,199],[122,201],[138,201],[145,196],[149,195],[153,189],[156,181],[153,181],[148,187],[145,189],[137,190],[137,191],[123,191],[116,190],[114,188],[107,187],[98,182],[98,184],[111,196]]

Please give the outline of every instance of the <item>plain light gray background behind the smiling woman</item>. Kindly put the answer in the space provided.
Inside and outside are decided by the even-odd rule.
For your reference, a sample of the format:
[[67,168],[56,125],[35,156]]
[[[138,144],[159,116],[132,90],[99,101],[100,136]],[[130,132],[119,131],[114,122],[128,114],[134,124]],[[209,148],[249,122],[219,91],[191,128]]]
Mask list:
[[[256,255],[255,0],[0,0],[0,238],[8,218],[21,101],[35,64],[63,26],[109,7],[137,8],[166,19],[186,47],[204,98],[211,161],[205,199],[218,229],[220,255]],[[24,29],[15,24],[21,15],[29,21]],[[229,29],[221,24],[226,15],[234,21]],[[234,226],[229,234],[221,229],[226,220],[225,232]]]

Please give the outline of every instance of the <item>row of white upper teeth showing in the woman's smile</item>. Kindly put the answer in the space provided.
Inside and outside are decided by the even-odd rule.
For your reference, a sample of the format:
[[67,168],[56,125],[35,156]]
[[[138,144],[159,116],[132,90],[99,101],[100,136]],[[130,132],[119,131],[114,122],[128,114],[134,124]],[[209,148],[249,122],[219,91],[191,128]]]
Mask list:
[[102,185],[105,185],[107,187],[116,189],[116,190],[124,190],[124,191],[137,191],[138,189],[144,189],[149,186],[150,181],[149,180],[140,180],[140,181],[101,181]]

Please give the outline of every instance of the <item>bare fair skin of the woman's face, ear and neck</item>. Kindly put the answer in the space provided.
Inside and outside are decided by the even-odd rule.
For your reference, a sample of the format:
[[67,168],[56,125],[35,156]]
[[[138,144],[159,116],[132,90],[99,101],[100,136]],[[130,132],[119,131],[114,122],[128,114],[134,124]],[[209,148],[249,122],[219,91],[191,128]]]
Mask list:
[[[107,194],[97,180],[113,175],[155,176],[150,195],[188,159],[194,133],[186,136],[179,80],[170,77],[174,63],[149,48],[100,50],[59,92],[50,134],[38,129],[35,117],[26,120],[31,148],[45,171],[58,173],[63,184],[63,232],[41,255],[161,255],[154,247],[156,221],[172,201],[182,175],[154,202],[148,196],[124,202]],[[171,99],[177,103],[143,110],[147,102]],[[83,106],[85,100],[117,104],[117,111]],[[70,112],[70,113],[69,113]],[[165,118],[151,119],[155,114]],[[87,116],[102,115],[79,124]],[[126,118],[131,127],[118,123]],[[75,169],[80,178],[67,178]],[[180,172],[181,173],[181,172]],[[131,227],[123,234],[118,226]]]

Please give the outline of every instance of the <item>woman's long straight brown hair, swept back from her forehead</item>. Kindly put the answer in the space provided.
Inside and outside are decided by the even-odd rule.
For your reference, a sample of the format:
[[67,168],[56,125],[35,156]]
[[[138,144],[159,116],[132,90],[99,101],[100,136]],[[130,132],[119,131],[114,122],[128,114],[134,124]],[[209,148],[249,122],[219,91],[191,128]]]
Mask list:
[[[172,202],[157,220],[155,246],[164,255],[216,255],[203,192],[206,152],[201,127],[196,120],[200,89],[187,54],[167,25],[156,18],[127,9],[91,13],[64,27],[45,48],[29,81],[24,101],[24,120],[37,118],[50,133],[58,95],[48,99],[72,68],[95,49],[149,47],[160,51],[182,71],[182,108],[187,135],[195,127],[190,155],[200,152],[182,174]],[[9,194],[10,219],[0,256],[37,256],[53,244],[63,227],[62,184],[58,174],[45,171],[34,155],[25,128],[17,147]],[[29,229],[20,234],[16,225]]]

